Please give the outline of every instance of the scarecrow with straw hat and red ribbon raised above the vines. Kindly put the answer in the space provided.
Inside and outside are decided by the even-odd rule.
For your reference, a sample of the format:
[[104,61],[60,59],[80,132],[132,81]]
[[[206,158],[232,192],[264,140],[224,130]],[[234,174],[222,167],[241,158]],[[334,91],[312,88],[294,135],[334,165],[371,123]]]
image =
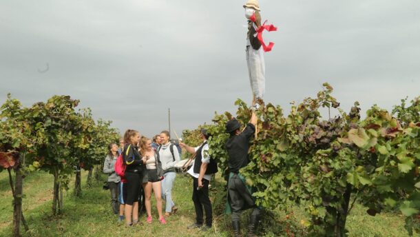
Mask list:
[[262,31],[277,30],[273,25],[261,25],[260,4],[257,0],[249,0],[244,5],[245,17],[248,19],[248,32],[246,34],[246,63],[248,66],[249,81],[253,92],[253,100],[262,104],[265,93],[265,63],[264,52],[269,52],[274,43],[265,45],[262,40]]

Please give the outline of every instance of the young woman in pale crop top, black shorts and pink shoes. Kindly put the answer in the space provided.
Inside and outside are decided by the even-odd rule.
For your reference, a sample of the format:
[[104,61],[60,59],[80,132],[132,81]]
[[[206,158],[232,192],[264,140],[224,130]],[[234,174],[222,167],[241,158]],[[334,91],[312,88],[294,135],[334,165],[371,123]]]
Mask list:
[[161,180],[163,178],[162,163],[160,163],[159,154],[151,147],[151,140],[144,137],[140,141],[140,153],[143,156],[143,163],[146,170],[143,176],[143,189],[145,190],[145,206],[147,212],[147,223],[151,223],[151,190],[153,189],[156,198],[156,207],[158,208],[159,221],[166,224],[162,216],[162,196]]

